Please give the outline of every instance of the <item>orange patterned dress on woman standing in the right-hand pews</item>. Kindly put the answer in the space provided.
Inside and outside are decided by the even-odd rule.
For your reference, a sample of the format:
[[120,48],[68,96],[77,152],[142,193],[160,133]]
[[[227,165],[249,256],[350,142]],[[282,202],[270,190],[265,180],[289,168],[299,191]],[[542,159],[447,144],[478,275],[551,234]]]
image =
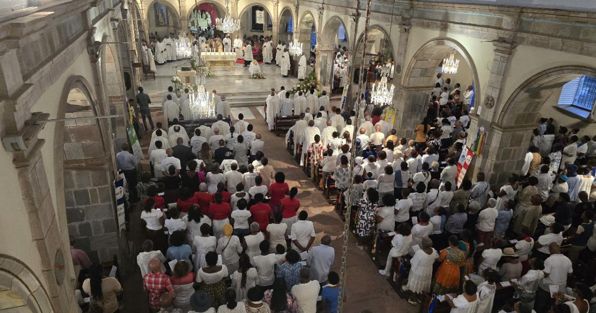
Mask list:
[[441,265],[434,277],[433,293],[444,295],[458,292],[460,289],[460,266],[465,263],[465,252],[448,247],[441,250],[437,261],[441,262]]

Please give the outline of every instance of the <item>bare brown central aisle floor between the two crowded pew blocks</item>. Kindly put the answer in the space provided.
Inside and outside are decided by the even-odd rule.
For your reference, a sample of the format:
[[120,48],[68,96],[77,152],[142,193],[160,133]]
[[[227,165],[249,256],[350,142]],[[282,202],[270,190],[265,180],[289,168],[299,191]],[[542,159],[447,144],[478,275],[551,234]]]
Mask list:
[[[265,141],[265,156],[269,158],[269,165],[275,171],[285,173],[285,182],[291,187],[298,187],[297,198],[300,200],[301,209],[309,214],[309,220],[315,225],[316,239],[313,246],[318,246],[324,234],[331,236],[331,246],[336,251],[336,258],[332,266],[333,271],[340,272],[342,266],[342,245],[344,223],[333,210],[312,181],[306,177],[296,161],[285,149],[285,137],[277,137],[268,131],[265,120],[256,107],[250,107],[254,120],[247,120],[253,124],[253,131],[260,132]],[[406,300],[399,298],[390,287],[386,277],[378,274],[377,267],[368,257],[367,253],[356,247],[355,237],[348,239],[347,261],[347,303],[344,312],[360,312],[364,309],[371,312],[394,312],[401,305],[404,312],[416,312],[418,306],[412,306]]]

